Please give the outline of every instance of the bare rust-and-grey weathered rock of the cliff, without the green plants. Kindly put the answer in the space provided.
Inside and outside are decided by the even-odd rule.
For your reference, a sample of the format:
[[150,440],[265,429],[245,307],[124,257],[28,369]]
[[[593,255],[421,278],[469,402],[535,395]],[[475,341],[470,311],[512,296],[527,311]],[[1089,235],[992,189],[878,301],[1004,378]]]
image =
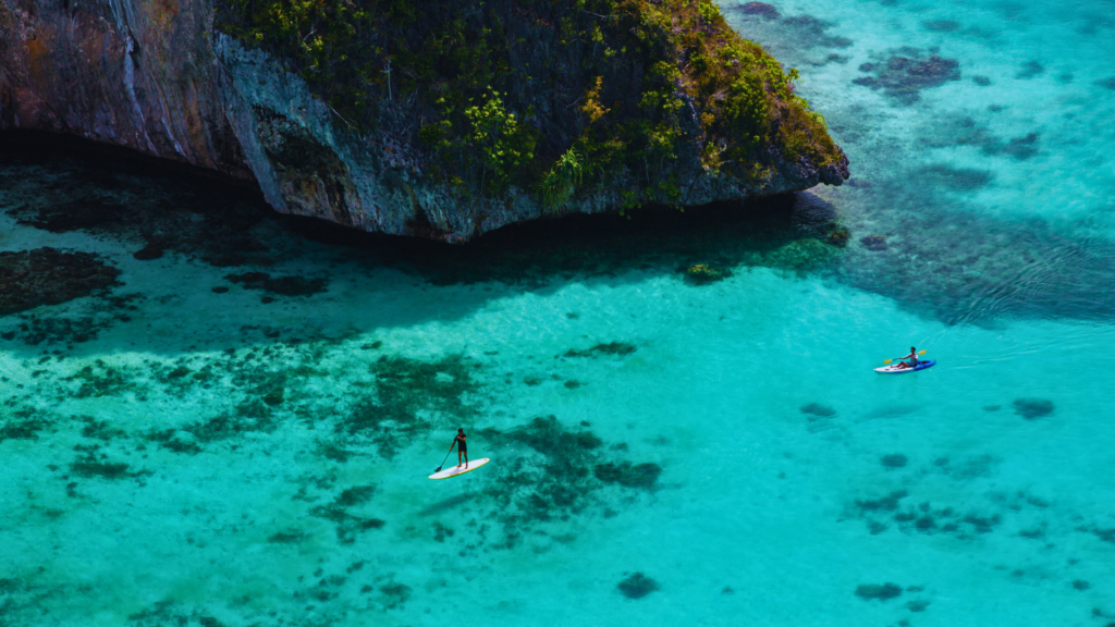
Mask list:
[[[493,10],[526,19],[521,18],[516,7],[514,1],[507,1]],[[704,120],[710,119],[708,107],[715,108],[725,96],[688,95],[687,77],[678,75],[668,80],[676,81],[671,97],[677,98],[680,113],[671,114],[676,119],[670,124],[675,128],[671,133],[679,135],[670,139],[675,142],[672,149],[662,149],[661,155],[647,153],[657,164],[639,160],[647,162],[647,172],[613,168],[608,181],[575,194],[572,187],[559,194],[561,202],[556,205],[544,202],[543,194],[532,185],[511,184],[496,192],[485,187],[482,177],[478,187],[469,187],[468,181],[462,185],[453,176],[432,175],[438,160],[445,161],[446,156],[423,144],[419,135],[428,116],[416,106],[407,109],[409,105],[401,103],[398,94],[392,96],[391,86],[397,83],[388,78],[384,85],[369,84],[369,99],[378,98],[379,118],[375,124],[353,125],[322,97],[320,88],[311,88],[303,80],[307,75],[304,68],[298,68],[298,59],[278,58],[265,44],[262,48],[249,47],[241,31],[241,38],[221,32],[214,28],[215,12],[220,13],[221,7],[214,7],[213,0],[0,0],[0,131],[42,129],[125,146],[253,181],[268,203],[283,213],[316,216],[365,231],[450,242],[541,216],[648,203],[695,205],[741,200],[820,183],[838,185],[849,176],[847,158],[832,144],[823,123],[815,126],[811,113],[801,113],[804,104],[792,96],[789,78],[786,86],[763,87],[768,94],[780,90],[782,95],[769,114],[769,146],[753,152],[755,167],[745,172],[725,158],[721,170],[712,153],[733,149],[725,137],[731,138],[735,132],[730,126],[735,123]],[[730,32],[718,13],[708,16],[698,25],[704,33],[719,37]],[[543,31],[553,30],[545,26],[546,19],[539,19],[542,21],[527,21],[541,23],[537,28]],[[728,37],[725,41],[737,37],[724,36]],[[607,39],[611,35],[602,37],[604,48],[614,44]],[[584,50],[603,58],[604,48],[585,46]],[[572,61],[586,54],[562,51],[563,59],[568,59],[554,76],[578,67]],[[765,52],[758,57],[752,51],[730,54],[767,62]],[[382,59],[369,58],[367,62],[380,64]],[[401,77],[407,68],[397,71]],[[571,84],[581,78],[575,75]],[[540,137],[553,144],[540,145],[535,151],[539,158],[551,164],[561,151],[573,149],[578,135],[584,136],[582,127],[608,115],[612,102],[605,102],[604,96],[611,98],[613,91],[626,89],[612,75],[608,75],[603,88],[599,77],[589,77],[585,85],[572,91],[560,80],[547,78],[552,87],[532,87],[535,95],[520,95],[514,102],[516,96],[506,96],[508,110],[518,110],[521,124],[533,125]],[[379,94],[385,86],[387,99]],[[578,107],[586,106],[584,96],[594,93],[599,95],[599,110],[578,113]],[[639,91],[630,96],[638,100]],[[731,93],[727,96],[729,100],[734,97]],[[576,106],[554,106],[555,98]],[[628,110],[632,110],[630,106]],[[617,114],[618,109],[611,115]],[[607,119],[599,124],[607,124]],[[792,126],[798,137],[793,143],[796,147],[788,147],[792,143],[783,137]],[[658,131],[647,133],[652,136]],[[717,133],[720,136],[714,142]],[[808,148],[804,152],[803,133]],[[809,148],[822,144],[821,153]],[[715,148],[711,152],[710,146]],[[155,251],[143,254],[154,258]]]

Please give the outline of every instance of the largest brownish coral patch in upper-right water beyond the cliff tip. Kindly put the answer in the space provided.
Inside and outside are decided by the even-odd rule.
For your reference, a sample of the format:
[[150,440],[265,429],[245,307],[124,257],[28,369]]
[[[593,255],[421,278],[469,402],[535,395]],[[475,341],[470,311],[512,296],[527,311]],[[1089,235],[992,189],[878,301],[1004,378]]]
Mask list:
[[882,89],[889,98],[912,105],[921,98],[921,90],[960,80],[960,61],[931,54],[923,57],[917,48],[901,48],[889,59],[867,62],[860,71],[874,73],[853,80],[872,89]]

